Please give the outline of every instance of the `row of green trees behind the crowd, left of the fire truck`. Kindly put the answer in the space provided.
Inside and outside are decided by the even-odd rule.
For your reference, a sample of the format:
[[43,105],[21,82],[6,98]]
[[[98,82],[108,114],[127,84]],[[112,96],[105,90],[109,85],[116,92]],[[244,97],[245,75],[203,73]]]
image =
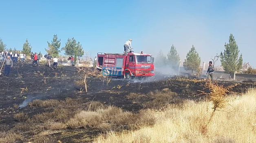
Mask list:
[[[53,35],[53,40],[51,42],[47,41],[47,43],[48,43],[48,48],[45,48],[45,51],[51,55],[58,56],[62,50],[64,50],[65,55],[73,55],[75,56],[75,58],[84,55],[84,50],[82,48],[81,43],[77,42],[74,37],[72,39],[68,38],[63,48],[60,48],[61,40],[58,39],[58,36],[56,34]],[[7,49],[6,44],[4,44],[4,42],[0,38],[0,51],[4,51],[4,50],[18,51],[16,48]],[[25,43],[23,44],[23,48],[20,52],[30,54],[31,50],[32,50],[32,46],[29,43],[28,39],[26,39]]]

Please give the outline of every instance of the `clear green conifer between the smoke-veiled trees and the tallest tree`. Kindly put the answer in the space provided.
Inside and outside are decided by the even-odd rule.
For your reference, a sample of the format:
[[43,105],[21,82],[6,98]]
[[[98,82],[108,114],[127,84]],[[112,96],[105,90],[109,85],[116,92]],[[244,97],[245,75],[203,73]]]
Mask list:
[[186,59],[183,63],[183,67],[185,70],[191,70],[193,73],[193,70],[197,70],[200,66],[201,58],[196,52],[196,48],[194,48],[194,45],[192,45],[192,48],[188,52]]

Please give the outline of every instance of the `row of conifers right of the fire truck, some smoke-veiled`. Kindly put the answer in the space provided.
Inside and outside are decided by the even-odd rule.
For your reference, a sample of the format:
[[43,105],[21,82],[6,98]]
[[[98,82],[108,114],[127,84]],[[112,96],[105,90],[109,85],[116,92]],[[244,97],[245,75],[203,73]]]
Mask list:
[[[240,51],[238,50],[238,45],[236,44],[236,40],[232,34],[230,34],[229,43],[225,43],[224,47],[224,52],[221,52],[220,54],[221,66],[225,72],[229,74],[240,71],[243,65],[243,58],[242,54],[239,56]],[[169,66],[172,69],[177,70],[180,63],[181,58],[174,45],[171,46],[171,49],[167,54],[167,58],[161,50],[156,57],[156,67]],[[185,70],[192,70],[193,72],[193,70],[199,69],[200,65],[201,58],[194,45],[192,45],[192,48],[186,55],[183,62],[183,67]]]

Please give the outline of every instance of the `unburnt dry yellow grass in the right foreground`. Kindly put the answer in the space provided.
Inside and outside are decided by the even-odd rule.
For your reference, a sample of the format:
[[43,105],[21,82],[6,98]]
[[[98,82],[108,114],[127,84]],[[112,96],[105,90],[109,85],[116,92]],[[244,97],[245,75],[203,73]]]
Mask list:
[[212,113],[212,102],[187,100],[171,105],[152,127],[136,131],[101,135],[94,143],[256,143],[256,90],[242,96],[230,96],[227,106]]

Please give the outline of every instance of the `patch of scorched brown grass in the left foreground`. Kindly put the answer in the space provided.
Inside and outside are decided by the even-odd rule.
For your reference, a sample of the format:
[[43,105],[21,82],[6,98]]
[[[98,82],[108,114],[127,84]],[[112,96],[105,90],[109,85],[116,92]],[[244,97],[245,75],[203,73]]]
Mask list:
[[[88,130],[95,130],[97,133],[106,133],[110,130],[136,130],[143,126],[153,126],[157,119],[150,109],[131,113],[116,106],[105,105],[98,101],[89,102],[81,98],[66,98],[60,101],[34,100],[29,104],[29,108],[40,109],[42,112],[14,114],[13,119],[16,124],[13,127],[0,126],[0,131],[8,134],[0,136],[1,143],[17,141],[53,143],[57,141],[55,137],[62,137],[61,133],[72,134],[77,129],[85,130],[84,134]],[[56,132],[60,134],[56,135]],[[75,134],[70,137],[76,142],[84,141],[84,138],[77,139]],[[88,137],[88,141],[91,141],[91,137]]]

